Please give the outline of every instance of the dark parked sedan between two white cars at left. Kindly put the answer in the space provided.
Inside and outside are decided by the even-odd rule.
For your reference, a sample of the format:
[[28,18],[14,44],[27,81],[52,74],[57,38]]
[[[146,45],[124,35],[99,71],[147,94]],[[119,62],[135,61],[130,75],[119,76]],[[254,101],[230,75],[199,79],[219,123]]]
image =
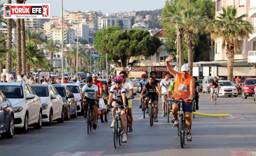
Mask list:
[[57,90],[59,95],[62,97],[63,104],[65,107],[65,120],[69,120],[70,116],[77,118],[77,105],[75,102],[75,96],[71,90],[64,84],[52,84]]

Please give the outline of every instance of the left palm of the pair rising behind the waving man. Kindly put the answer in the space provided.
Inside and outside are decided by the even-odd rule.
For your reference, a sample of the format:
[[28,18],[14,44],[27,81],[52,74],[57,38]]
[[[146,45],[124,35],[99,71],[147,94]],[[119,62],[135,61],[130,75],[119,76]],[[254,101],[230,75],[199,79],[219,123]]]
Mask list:
[[183,34],[185,26],[183,24],[182,11],[187,7],[187,1],[166,1],[165,8],[162,12],[164,17],[161,20],[162,25],[166,25],[169,29],[177,29],[178,33],[178,47],[179,47],[179,68],[183,65],[184,56],[183,56]]

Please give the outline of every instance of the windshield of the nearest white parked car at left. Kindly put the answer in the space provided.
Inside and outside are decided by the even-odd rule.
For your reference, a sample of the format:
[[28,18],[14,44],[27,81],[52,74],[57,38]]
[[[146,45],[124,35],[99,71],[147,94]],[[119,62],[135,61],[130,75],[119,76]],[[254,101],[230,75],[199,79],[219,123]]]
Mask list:
[[0,90],[6,98],[23,98],[22,86],[1,85]]

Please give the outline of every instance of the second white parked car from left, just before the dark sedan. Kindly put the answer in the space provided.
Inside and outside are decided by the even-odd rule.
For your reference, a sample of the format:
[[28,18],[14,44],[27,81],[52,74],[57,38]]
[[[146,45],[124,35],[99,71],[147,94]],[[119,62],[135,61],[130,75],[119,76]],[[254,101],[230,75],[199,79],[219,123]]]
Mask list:
[[46,122],[48,126],[51,126],[56,119],[58,119],[58,122],[64,122],[65,109],[62,97],[57,90],[50,84],[31,86],[42,102],[42,122]]

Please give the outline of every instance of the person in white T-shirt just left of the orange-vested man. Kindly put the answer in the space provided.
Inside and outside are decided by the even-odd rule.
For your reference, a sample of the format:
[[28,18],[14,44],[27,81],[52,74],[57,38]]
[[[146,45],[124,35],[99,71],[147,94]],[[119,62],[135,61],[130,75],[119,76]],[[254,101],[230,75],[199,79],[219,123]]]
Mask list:
[[162,108],[163,108],[162,117],[165,116],[165,101],[167,100],[167,95],[163,95],[163,94],[167,94],[170,83],[172,83],[172,81],[173,81],[173,80],[169,79],[169,77],[170,77],[169,72],[165,72],[164,75],[165,75],[165,78],[161,80],[160,87],[159,87],[160,91],[162,89]]

